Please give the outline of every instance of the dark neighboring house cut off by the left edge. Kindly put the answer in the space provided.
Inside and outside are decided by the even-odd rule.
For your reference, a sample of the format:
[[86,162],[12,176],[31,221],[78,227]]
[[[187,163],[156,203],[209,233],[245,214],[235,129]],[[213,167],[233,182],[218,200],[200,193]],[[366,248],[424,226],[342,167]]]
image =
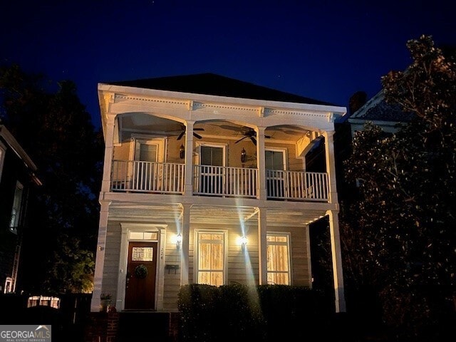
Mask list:
[[28,191],[41,185],[36,166],[0,123],[0,289],[16,291]]

